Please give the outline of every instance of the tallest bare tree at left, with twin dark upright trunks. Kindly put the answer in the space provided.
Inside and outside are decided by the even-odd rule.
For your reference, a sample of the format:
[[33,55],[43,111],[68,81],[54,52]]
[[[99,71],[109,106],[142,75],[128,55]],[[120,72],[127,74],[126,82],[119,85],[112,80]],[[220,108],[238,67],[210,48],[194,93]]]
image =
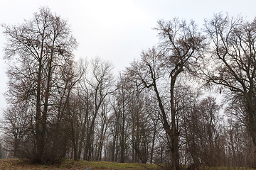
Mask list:
[[77,42],[67,21],[39,8],[33,18],[21,25],[4,27],[7,43],[5,59],[9,61],[9,103],[30,101],[35,114],[35,152],[33,161],[45,163],[46,132],[52,91],[63,67],[73,62]]

